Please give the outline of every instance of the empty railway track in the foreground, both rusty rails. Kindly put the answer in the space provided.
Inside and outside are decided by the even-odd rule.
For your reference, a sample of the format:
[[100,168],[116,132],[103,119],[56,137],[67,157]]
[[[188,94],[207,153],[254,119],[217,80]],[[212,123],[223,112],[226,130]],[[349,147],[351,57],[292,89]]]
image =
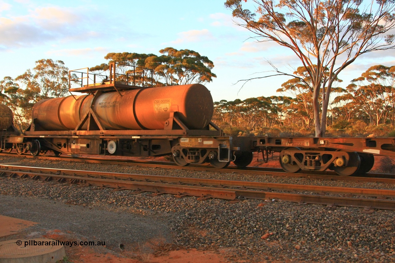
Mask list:
[[[69,182],[71,184],[83,184],[86,186],[134,190],[131,192],[132,194],[153,192],[152,195],[167,193],[173,194],[175,197],[196,196],[200,200],[209,198],[220,198],[230,201],[240,201],[243,199],[261,199],[265,201],[283,200],[301,204],[395,210],[395,190],[386,189],[103,173],[4,164],[0,165],[0,175],[31,178],[47,182]],[[317,194],[305,194],[300,192],[314,192]],[[328,193],[332,195],[328,195]]]

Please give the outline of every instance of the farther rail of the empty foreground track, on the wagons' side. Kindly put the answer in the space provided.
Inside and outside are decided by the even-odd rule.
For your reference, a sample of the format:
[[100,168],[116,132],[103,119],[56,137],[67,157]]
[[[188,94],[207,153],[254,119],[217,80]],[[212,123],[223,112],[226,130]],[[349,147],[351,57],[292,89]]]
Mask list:
[[[179,184],[194,184],[200,186],[218,186],[218,187],[236,187],[277,191],[294,191],[294,192],[314,192],[314,193],[335,193],[343,195],[362,195],[371,197],[395,198],[395,190],[376,189],[376,188],[354,188],[354,187],[336,187],[336,186],[320,186],[320,185],[304,185],[304,184],[283,184],[270,182],[252,182],[242,180],[224,180],[210,178],[194,178],[194,177],[175,177],[164,175],[141,175],[129,173],[109,173],[97,171],[81,171],[68,169],[55,169],[43,167],[30,167],[19,165],[0,164],[0,169],[9,169],[17,171],[30,171],[35,173],[49,173],[56,175],[77,175],[88,177],[110,177],[122,178],[130,180],[141,180],[147,182],[167,182]],[[0,170],[4,171],[4,170]]]

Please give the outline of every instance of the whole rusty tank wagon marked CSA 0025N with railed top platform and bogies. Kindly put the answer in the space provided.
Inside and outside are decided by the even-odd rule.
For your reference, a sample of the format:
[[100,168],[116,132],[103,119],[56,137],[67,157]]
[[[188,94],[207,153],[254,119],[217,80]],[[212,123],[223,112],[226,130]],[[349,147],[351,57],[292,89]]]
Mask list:
[[[126,65],[120,66],[110,64],[109,79],[88,70],[70,71],[70,86],[80,84],[70,91],[87,94],[36,103],[17,152],[171,154],[181,166],[209,162],[217,168],[232,161],[245,167],[252,161],[251,138],[226,136],[211,122],[213,99],[205,86],[152,87],[148,69],[120,72]],[[81,77],[72,79],[73,73]]]

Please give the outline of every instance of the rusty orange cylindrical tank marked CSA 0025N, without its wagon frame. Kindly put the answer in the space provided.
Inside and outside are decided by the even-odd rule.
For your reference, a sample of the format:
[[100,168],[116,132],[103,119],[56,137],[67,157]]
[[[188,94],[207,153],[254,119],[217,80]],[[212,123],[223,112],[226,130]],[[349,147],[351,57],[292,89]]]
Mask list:
[[34,105],[32,117],[45,130],[74,130],[92,107],[106,130],[162,130],[174,111],[189,129],[204,128],[213,116],[213,98],[201,84],[120,93],[103,93],[93,105],[91,94],[41,100]]

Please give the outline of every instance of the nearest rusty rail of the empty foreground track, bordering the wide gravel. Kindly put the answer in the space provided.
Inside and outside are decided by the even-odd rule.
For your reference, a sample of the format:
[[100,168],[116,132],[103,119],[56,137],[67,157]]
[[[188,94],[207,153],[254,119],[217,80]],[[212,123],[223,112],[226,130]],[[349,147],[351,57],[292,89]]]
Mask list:
[[155,193],[170,193],[176,194],[179,197],[183,196],[198,196],[203,198],[220,198],[220,199],[261,199],[261,200],[284,200],[297,203],[308,203],[308,204],[321,204],[321,205],[332,205],[332,206],[347,206],[347,207],[363,207],[371,209],[384,209],[384,210],[395,210],[395,200],[382,200],[382,199],[367,199],[367,198],[352,198],[352,197],[336,197],[326,195],[306,195],[296,193],[276,193],[276,192],[265,192],[265,191],[253,191],[253,190],[230,190],[224,188],[210,188],[203,186],[186,186],[186,185],[174,185],[174,184],[159,184],[152,182],[134,182],[129,180],[117,180],[117,179],[103,179],[93,177],[79,177],[69,175],[57,175],[57,174],[43,174],[29,171],[16,171],[16,170],[0,170],[0,175],[21,178],[32,178],[35,180],[44,181],[56,181],[64,182],[68,181],[73,184],[84,184],[88,186],[100,186],[117,189],[136,190],[137,193],[144,192],[155,192]]

